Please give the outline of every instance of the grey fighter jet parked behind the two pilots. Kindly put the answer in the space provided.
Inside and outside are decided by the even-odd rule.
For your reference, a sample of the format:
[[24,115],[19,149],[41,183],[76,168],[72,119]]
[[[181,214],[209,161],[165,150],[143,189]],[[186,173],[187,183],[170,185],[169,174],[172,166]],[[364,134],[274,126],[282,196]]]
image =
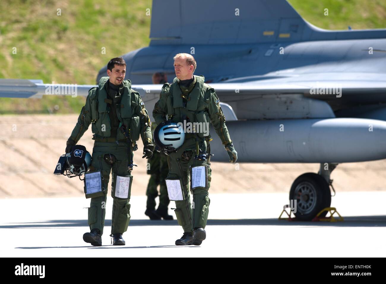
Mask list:
[[[151,11],[149,46],[123,55],[146,108],[162,87],[152,75],[164,72],[171,83],[173,56],[191,53],[195,75],[221,100],[237,162],[320,163],[291,185],[296,218],[330,207],[339,163],[386,158],[386,29],[320,29],[285,0],[154,0]],[[39,97],[47,86],[5,79],[0,94]],[[78,86],[78,94],[91,87]],[[227,162],[212,138],[211,160]]]

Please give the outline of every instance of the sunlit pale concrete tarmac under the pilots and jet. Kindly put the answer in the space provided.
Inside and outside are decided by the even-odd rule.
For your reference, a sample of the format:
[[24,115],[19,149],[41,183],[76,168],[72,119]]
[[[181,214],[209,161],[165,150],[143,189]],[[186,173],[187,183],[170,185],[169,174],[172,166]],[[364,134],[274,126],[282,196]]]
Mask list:
[[[343,222],[279,221],[286,193],[210,194],[207,239],[175,246],[177,221],[151,221],[146,196],[132,196],[125,246],[110,245],[112,198],[106,205],[102,247],[89,231],[84,197],[0,199],[2,257],[384,257],[386,192],[338,192],[331,206]],[[175,207],[171,202],[170,207]],[[174,212],[169,209],[169,213]]]

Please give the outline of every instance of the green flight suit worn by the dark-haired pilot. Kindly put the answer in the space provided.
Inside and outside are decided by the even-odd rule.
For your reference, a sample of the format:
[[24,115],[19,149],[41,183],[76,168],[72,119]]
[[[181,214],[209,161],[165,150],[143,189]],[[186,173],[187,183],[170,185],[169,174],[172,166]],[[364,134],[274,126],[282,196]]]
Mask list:
[[[110,106],[113,102],[108,99],[105,88],[108,80],[109,77],[102,77],[98,87],[89,90],[86,104],[69,138],[77,143],[91,124],[95,142],[90,170],[102,171],[102,186],[105,192],[104,196],[91,198],[90,208],[88,208],[88,224],[90,230],[97,228],[101,234],[105,223],[105,205],[111,170],[113,172],[112,185],[114,185],[116,175],[130,175],[128,153],[133,156],[133,149],[136,150],[135,141],[138,141],[139,136],[144,145],[152,144],[149,116],[139,93],[130,88],[130,80],[124,80],[120,103],[115,104],[112,108]],[[115,109],[120,125],[126,126],[131,141],[125,138],[120,128],[117,129],[116,137],[111,136],[110,109]],[[108,164],[103,159],[107,153],[113,154],[117,162],[113,165]],[[130,221],[130,192],[127,199],[118,198],[115,197],[112,188],[111,195],[113,197],[111,233],[124,233]]]

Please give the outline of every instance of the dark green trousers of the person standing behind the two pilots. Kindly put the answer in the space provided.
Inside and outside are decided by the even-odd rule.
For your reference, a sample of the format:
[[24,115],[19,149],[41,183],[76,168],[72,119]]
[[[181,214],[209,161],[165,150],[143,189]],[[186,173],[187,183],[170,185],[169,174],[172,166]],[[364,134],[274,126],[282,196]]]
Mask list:
[[[156,129],[157,124],[151,124],[152,134],[154,129]],[[147,184],[146,196],[146,209],[154,210],[156,208],[156,197],[158,196],[157,187],[159,185],[159,205],[160,210],[168,210],[168,205],[170,203],[168,197],[168,189],[166,188],[165,179],[168,176],[169,167],[168,160],[164,153],[159,153],[157,151],[153,152],[153,156],[149,159],[149,169],[147,174],[150,175],[149,184]]]

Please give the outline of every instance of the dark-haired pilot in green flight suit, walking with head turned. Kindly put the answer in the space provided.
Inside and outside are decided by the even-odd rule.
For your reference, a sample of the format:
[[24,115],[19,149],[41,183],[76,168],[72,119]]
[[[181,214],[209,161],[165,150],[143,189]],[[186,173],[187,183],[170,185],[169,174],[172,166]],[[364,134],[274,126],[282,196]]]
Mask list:
[[91,232],[85,233],[83,240],[94,246],[102,245],[101,236],[111,171],[113,211],[110,236],[113,238],[113,245],[125,245],[122,234],[127,230],[130,221],[130,190],[127,198],[116,197],[114,179],[117,175],[130,175],[132,151],[137,149],[135,141],[140,135],[144,144],[142,158],[151,158],[154,150],[150,120],[141,96],[130,88],[130,80],[124,80],[125,61],[123,58],[113,58],[107,69],[109,77],[102,77],[98,87],[90,89],[66,148],[66,153],[69,153],[91,124],[95,142],[90,170],[102,171],[102,187],[105,189],[103,196],[91,198],[88,208]]

